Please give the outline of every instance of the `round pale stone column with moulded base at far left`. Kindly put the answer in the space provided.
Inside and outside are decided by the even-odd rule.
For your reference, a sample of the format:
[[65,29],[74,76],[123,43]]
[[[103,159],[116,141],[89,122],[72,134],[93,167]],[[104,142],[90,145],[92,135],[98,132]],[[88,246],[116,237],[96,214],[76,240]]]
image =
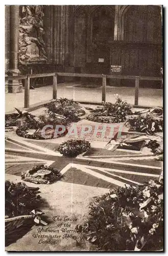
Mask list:
[[[9,76],[18,76],[18,36],[19,36],[19,6],[10,6],[10,36],[9,36]],[[18,79],[8,81],[8,92],[22,92],[22,84]]]

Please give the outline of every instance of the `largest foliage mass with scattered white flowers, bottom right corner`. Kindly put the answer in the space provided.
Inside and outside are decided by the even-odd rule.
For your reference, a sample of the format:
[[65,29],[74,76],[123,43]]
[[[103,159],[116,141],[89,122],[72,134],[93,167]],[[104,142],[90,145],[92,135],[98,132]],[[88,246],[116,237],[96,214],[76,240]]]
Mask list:
[[[163,246],[163,184],[125,186],[95,198],[87,223],[77,226],[98,250],[157,249]],[[157,245],[156,245],[157,241]]]

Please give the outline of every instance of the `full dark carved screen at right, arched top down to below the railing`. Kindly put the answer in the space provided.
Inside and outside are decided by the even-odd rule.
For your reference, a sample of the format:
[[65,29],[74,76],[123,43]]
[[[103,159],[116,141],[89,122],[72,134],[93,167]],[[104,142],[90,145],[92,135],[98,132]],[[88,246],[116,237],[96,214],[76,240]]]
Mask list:
[[[118,41],[111,41],[111,65],[122,65],[122,74],[160,76],[162,20],[159,6],[123,6],[119,12]],[[140,82],[160,87],[159,82]],[[122,85],[134,83],[123,80]]]

